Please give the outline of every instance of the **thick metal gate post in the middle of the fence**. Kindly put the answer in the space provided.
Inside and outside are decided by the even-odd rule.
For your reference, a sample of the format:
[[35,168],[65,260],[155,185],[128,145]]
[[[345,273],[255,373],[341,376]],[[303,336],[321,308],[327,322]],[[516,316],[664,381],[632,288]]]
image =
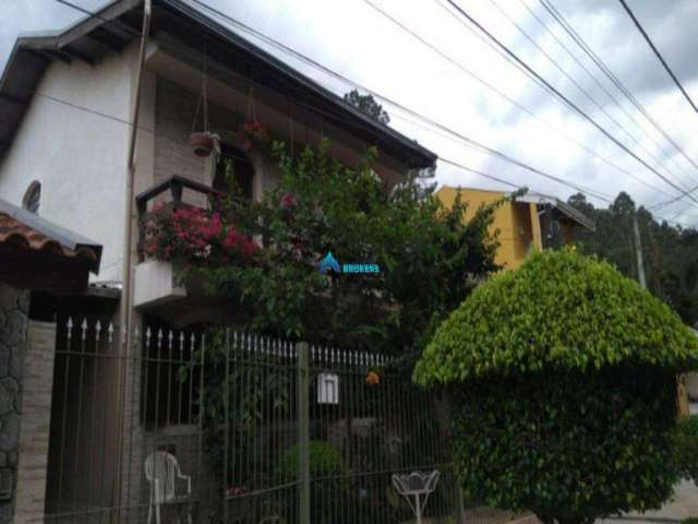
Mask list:
[[299,523],[310,524],[310,366],[308,343],[298,344],[298,512]]

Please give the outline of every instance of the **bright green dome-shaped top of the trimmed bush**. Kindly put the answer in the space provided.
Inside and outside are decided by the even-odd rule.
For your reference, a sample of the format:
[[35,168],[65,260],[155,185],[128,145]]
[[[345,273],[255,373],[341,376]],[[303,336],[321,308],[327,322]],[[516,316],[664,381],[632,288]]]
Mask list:
[[619,364],[681,368],[698,341],[664,303],[611,264],[574,250],[533,254],[481,285],[438,329],[422,384]]

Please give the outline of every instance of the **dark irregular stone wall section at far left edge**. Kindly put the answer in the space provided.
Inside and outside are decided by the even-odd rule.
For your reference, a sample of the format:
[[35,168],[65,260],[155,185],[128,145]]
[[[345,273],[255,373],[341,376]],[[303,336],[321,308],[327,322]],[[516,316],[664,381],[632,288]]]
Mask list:
[[12,489],[0,500],[0,523],[13,522],[28,309],[28,291],[0,284],[0,489]]

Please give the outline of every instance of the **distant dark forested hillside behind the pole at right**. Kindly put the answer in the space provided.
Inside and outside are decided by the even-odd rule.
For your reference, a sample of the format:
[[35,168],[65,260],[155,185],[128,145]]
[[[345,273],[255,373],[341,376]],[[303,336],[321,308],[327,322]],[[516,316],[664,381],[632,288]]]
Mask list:
[[605,210],[595,209],[579,193],[571,195],[568,202],[597,223],[595,231],[574,231],[581,251],[607,260],[630,278],[637,278],[633,240],[633,216],[637,213],[648,288],[674,308],[684,322],[698,326],[696,228],[682,228],[655,219],[643,207],[636,209],[627,193],[618,194]]

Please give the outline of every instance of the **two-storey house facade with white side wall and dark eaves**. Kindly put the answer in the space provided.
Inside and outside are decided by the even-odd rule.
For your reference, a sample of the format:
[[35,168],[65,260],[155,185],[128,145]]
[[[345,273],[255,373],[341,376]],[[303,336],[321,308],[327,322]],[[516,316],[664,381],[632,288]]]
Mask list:
[[[372,168],[388,186],[435,162],[180,0],[118,0],[65,29],[20,37],[0,81],[0,198],[101,246],[86,288],[33,301],[53,325],[56,358],[44,370],[50,431],[22,426],[45,456],[35,457],[44,466],[17,522],[147,505],[141,488],[156,451],[195,469],[201,434],[172,348],[185,358],[181,330],[234,312],[182,287],[170,264],[146,260],[140,217],[158,202],[207,205],[227,189],[224,157],[244,198],[260,200],[275,187],[276,162],[268,147],[242,140],[245,122],[263,123],[293,151],[328,139],[329,154],[348,165],[376,146]],[[193,131],[216,133],[220,155],[194,154]],[[165,338],[146,334],[153,325]],[[191,341],[190,357],[200,349],[194,334]]]

